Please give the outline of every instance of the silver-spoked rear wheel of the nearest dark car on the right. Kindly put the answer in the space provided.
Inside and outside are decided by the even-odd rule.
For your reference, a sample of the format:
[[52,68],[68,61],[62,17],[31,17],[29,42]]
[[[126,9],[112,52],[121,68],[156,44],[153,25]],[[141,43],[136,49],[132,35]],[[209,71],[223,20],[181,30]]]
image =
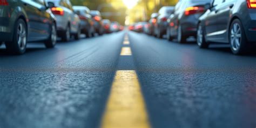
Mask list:
[[229,32],[229,41],[232,52],[235,55],[246,53],[250,48],[250,44],[247,42],[245,30],[239,19],[235,19],[232,22]]

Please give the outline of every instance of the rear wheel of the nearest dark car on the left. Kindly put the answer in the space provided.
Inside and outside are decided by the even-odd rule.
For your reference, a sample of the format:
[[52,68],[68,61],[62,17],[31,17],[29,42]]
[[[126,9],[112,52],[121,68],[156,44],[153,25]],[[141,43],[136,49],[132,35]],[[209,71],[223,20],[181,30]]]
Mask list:
[[26,43],[28,42],[28,28],[23,19],[18,19],[15,24],[14,37],[12,42],[5,42],[6,49],[11,53],[23,54],[26,51]]

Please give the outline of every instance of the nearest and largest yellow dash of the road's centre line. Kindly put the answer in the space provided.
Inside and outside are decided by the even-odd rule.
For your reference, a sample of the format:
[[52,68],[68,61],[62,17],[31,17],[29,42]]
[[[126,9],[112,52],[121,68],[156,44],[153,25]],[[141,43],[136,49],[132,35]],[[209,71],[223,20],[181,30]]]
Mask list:
[[102,128],[150,128],[135,71],[116,72]]

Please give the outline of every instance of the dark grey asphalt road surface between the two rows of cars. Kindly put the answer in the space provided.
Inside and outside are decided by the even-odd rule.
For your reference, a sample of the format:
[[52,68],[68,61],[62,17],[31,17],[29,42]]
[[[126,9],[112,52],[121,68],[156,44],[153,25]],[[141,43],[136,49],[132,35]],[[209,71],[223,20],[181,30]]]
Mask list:
[[125,33],[0,49],[0,127],[101,127],[117,70],[137,72],[152,128],[256,127],[255,53]]

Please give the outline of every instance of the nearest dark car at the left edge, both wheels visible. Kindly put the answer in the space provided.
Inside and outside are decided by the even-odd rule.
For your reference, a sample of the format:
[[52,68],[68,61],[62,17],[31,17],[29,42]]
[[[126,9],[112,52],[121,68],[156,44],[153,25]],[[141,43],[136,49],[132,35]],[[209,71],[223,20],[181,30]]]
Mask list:
[[56,18],[44,1],[0,2],[0,43],[12,53],[22,54],[27,42],[43,41],[46,48],[56,44]]

